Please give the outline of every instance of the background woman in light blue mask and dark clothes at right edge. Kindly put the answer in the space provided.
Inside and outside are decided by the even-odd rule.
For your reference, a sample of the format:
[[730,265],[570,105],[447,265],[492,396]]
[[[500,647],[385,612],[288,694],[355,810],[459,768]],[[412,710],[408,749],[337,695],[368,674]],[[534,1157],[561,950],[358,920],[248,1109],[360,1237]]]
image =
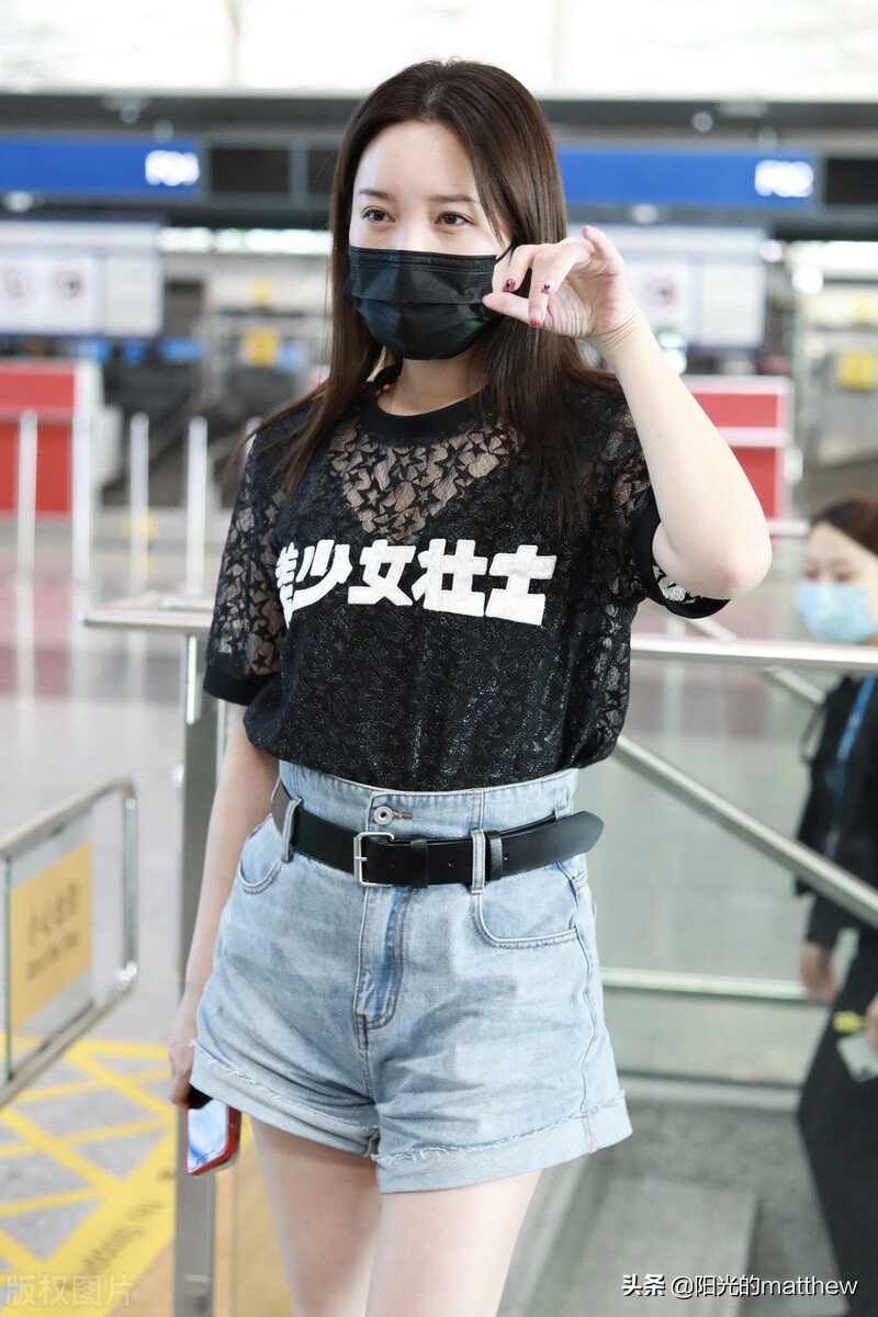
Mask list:
[[[878,644],[878,500],[835,503],[813,519],[806,541],[799,610],[820,640]],[[799,840],[878,886],[878,695],[874,677],[845,677],[821,711],[811,760],[811,793]],[[799,893],[807,884],[796,882]],[[832,951],[844,927],[857,951],[839,990]],[[811,906],[799,975],[812,1001],[833,1015],[866,1019],[878,1062],[878,928],[825,897]],[[829,1021],[799,1104],[799,1123],[839,1267],[857,1281],[850,1313],[878,1313],[878,1079],[856,1080],[839,1055]]]

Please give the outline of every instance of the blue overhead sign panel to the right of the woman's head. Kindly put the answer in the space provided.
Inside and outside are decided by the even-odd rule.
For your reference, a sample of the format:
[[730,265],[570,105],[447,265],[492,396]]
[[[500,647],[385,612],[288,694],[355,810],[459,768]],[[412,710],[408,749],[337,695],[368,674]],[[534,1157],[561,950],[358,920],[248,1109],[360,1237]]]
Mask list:
[[570,205],[807,209],[815,162],[807,151],[558,151]]

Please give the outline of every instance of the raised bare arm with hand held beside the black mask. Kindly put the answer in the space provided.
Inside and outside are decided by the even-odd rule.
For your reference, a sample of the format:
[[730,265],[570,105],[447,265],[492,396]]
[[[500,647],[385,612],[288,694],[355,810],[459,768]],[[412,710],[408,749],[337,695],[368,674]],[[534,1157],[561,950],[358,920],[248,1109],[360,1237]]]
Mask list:
[[[746,594],[769,569],[771,541],[750,482],[659,348],[633,302],[621,255],[595,228],[583,240],[519,246],[494,311],[540,332],[584,338],[621,383],[661,518],[658,566],[691,594]],[[516,296],[528,270],[528,299]]]

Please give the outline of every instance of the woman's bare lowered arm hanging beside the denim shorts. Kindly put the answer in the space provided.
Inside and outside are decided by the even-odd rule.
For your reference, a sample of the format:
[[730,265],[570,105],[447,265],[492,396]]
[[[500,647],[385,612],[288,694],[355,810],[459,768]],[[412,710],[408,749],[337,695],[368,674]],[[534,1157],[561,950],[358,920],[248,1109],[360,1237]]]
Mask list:
[[168,1058],[172,1079],[168,1096],[178,1106],[186,1105],[188,1093],[194,1060],[190,1039],[195,1036],[195,1013],[213,967],[220,915],[232,892],[244,843],[269,811],[269,797],[276,777],[276,759],[247,740],[244,723],[236,716],[211,809],[183,996],[171,1023]]

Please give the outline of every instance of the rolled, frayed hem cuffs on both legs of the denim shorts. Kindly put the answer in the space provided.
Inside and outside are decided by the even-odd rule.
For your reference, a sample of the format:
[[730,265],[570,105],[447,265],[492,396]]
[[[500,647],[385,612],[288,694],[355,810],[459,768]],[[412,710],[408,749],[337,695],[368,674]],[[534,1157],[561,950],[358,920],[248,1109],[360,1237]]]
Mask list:
[[300,1138],[358,1156],[371,1158],[382,1193],[424,1189],[461,1189],[512,1175],[571,1162],[586,1152],[620,1143],[632,1133],[625,1094],[588,1112],[578,1112],[554,1125],[516,1134],[495,1143],[426,1147],[415,1152],[374,1152],[378,1127],[291,1102],[246,1075],[230,1069],[196,1044],[192,1084],[238,1108],[254,1119]]

